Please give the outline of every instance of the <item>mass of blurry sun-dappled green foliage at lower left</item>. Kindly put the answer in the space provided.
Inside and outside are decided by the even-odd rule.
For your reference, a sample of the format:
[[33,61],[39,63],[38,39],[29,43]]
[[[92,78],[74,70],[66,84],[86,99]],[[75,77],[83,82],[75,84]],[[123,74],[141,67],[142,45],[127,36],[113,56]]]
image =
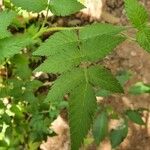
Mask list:
[[[2,120],[0,127],[3,127],[4,124],[8,125],[3,139],[7,143],[6,148],[19,149],[20,147],[22,149],[29,146],[31,142],[46,139],[47,135],[51,134],[49,107],[43,103],[44,98],[41,99],[40,95],[35,94],[43,83],[36,79],[30,79],[32,72],[28,63],[29,58],[26,55],[15,55],[10,60],[12,74],[6,81],[4,80],[3,86],[0,88],[0,91],[5,91],[2,95],[0,92],[2,106],[0,109],[3,112],[0,114]],[[22,70],[20,65],[22,65]],[[17,69],[24,72],[18,72]],[[3,98],[8,99],[8,102],[3,102]],[[43,111],[47,111],[47,113],[43,115]],[[37,119],[36,123],[35,119]],[[30,147],[33,145],[30,144]]]

